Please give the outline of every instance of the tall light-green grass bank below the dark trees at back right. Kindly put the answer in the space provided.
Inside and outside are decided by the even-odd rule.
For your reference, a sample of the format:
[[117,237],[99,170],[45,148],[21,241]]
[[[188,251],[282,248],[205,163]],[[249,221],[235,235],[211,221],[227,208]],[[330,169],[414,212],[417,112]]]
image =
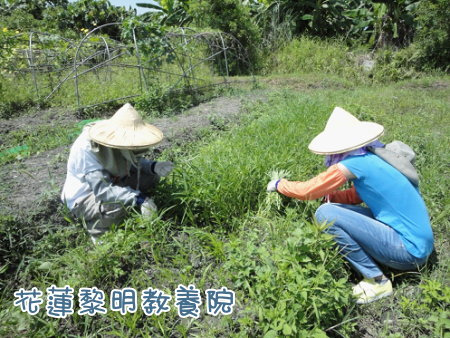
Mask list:
[[[321,40],[302,36],[284,44],[266,59],[266,74],[326,73],[357,84],[390,83],[423,77],[414,68],[417,51],[383,49],[372,51],[363,46],[355,49],[340,40]],[[372,69],[364,64],[373,62]]]

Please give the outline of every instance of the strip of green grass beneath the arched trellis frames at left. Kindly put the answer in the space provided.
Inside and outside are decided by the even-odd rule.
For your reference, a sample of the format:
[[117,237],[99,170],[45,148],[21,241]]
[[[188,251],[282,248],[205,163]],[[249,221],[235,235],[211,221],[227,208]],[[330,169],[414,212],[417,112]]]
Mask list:
[[[195,53],[190,56],[201,57]],[[143,96],[137,99],[137,103],[141,110],[162,113],[200,102],[202,97],[210,96],[206,89],[214,90],[214,87],[207,88],[208,86],[224,81],[223,77],[214,74],[210,64],[198,59],[179,57],[172,62],[161,60],[160,64],[153,60],[147,65],[150,69],[143,70],[142,73],[138,68],[122,66],[136,63],[135,58],[121,57],[108,66],[95,70],[90,70],[94,65],[80,66],[77,69],[77,80],[73,69],[37,72],[34,76],[30,72],[2,73],[0,117],[21,115],[35,105],[74,109],[122,97],[126,97],[127,102],[134,101],[140,95]],[[193,66],[195,69],[190,70]],[[62,82],[64,79],[66,80]],[[57,86],[58,90],[53,92],[53,88]],[[200,88],[199,92],[191,93],[197,87]],[[188,97],[189,95],[192,97]]]

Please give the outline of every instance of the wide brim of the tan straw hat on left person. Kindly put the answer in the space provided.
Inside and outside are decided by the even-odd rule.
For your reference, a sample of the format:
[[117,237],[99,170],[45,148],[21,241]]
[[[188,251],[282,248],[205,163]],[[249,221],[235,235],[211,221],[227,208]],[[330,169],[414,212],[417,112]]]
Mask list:
[[90,127],[89,137],[94,142],[106,147],[141,150],[160,143],[163,133],[148,123],[137,125],[134,128],[121,128],[111,120],[103,120]]

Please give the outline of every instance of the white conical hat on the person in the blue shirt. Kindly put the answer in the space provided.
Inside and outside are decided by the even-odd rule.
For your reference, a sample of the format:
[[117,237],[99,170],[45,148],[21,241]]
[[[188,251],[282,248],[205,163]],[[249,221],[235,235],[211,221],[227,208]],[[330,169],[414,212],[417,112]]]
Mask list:
[[359,121],[349,112],[336,107],[324,131],[311,141],[308,148],[321,155],[345,153],[375,141],[383,132],[382,125]]

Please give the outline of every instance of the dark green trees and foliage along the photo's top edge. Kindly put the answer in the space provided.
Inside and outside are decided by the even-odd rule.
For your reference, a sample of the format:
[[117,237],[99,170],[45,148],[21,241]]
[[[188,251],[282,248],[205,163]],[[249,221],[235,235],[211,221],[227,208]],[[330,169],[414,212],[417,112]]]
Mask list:
[[[302,35],[339,38],[367,50],[408,49],[416,69],[448,70],[450,45],[448,0],[167,0],[139,3],[153,11],[112,6],[108,0],[2,0],[0,27],[44,30],[73,36],[105,23],[137,17],[148,24],[191,26],[231,33],[261,66],[273,50]],[[106,31],[118,38],[117,27]]]

